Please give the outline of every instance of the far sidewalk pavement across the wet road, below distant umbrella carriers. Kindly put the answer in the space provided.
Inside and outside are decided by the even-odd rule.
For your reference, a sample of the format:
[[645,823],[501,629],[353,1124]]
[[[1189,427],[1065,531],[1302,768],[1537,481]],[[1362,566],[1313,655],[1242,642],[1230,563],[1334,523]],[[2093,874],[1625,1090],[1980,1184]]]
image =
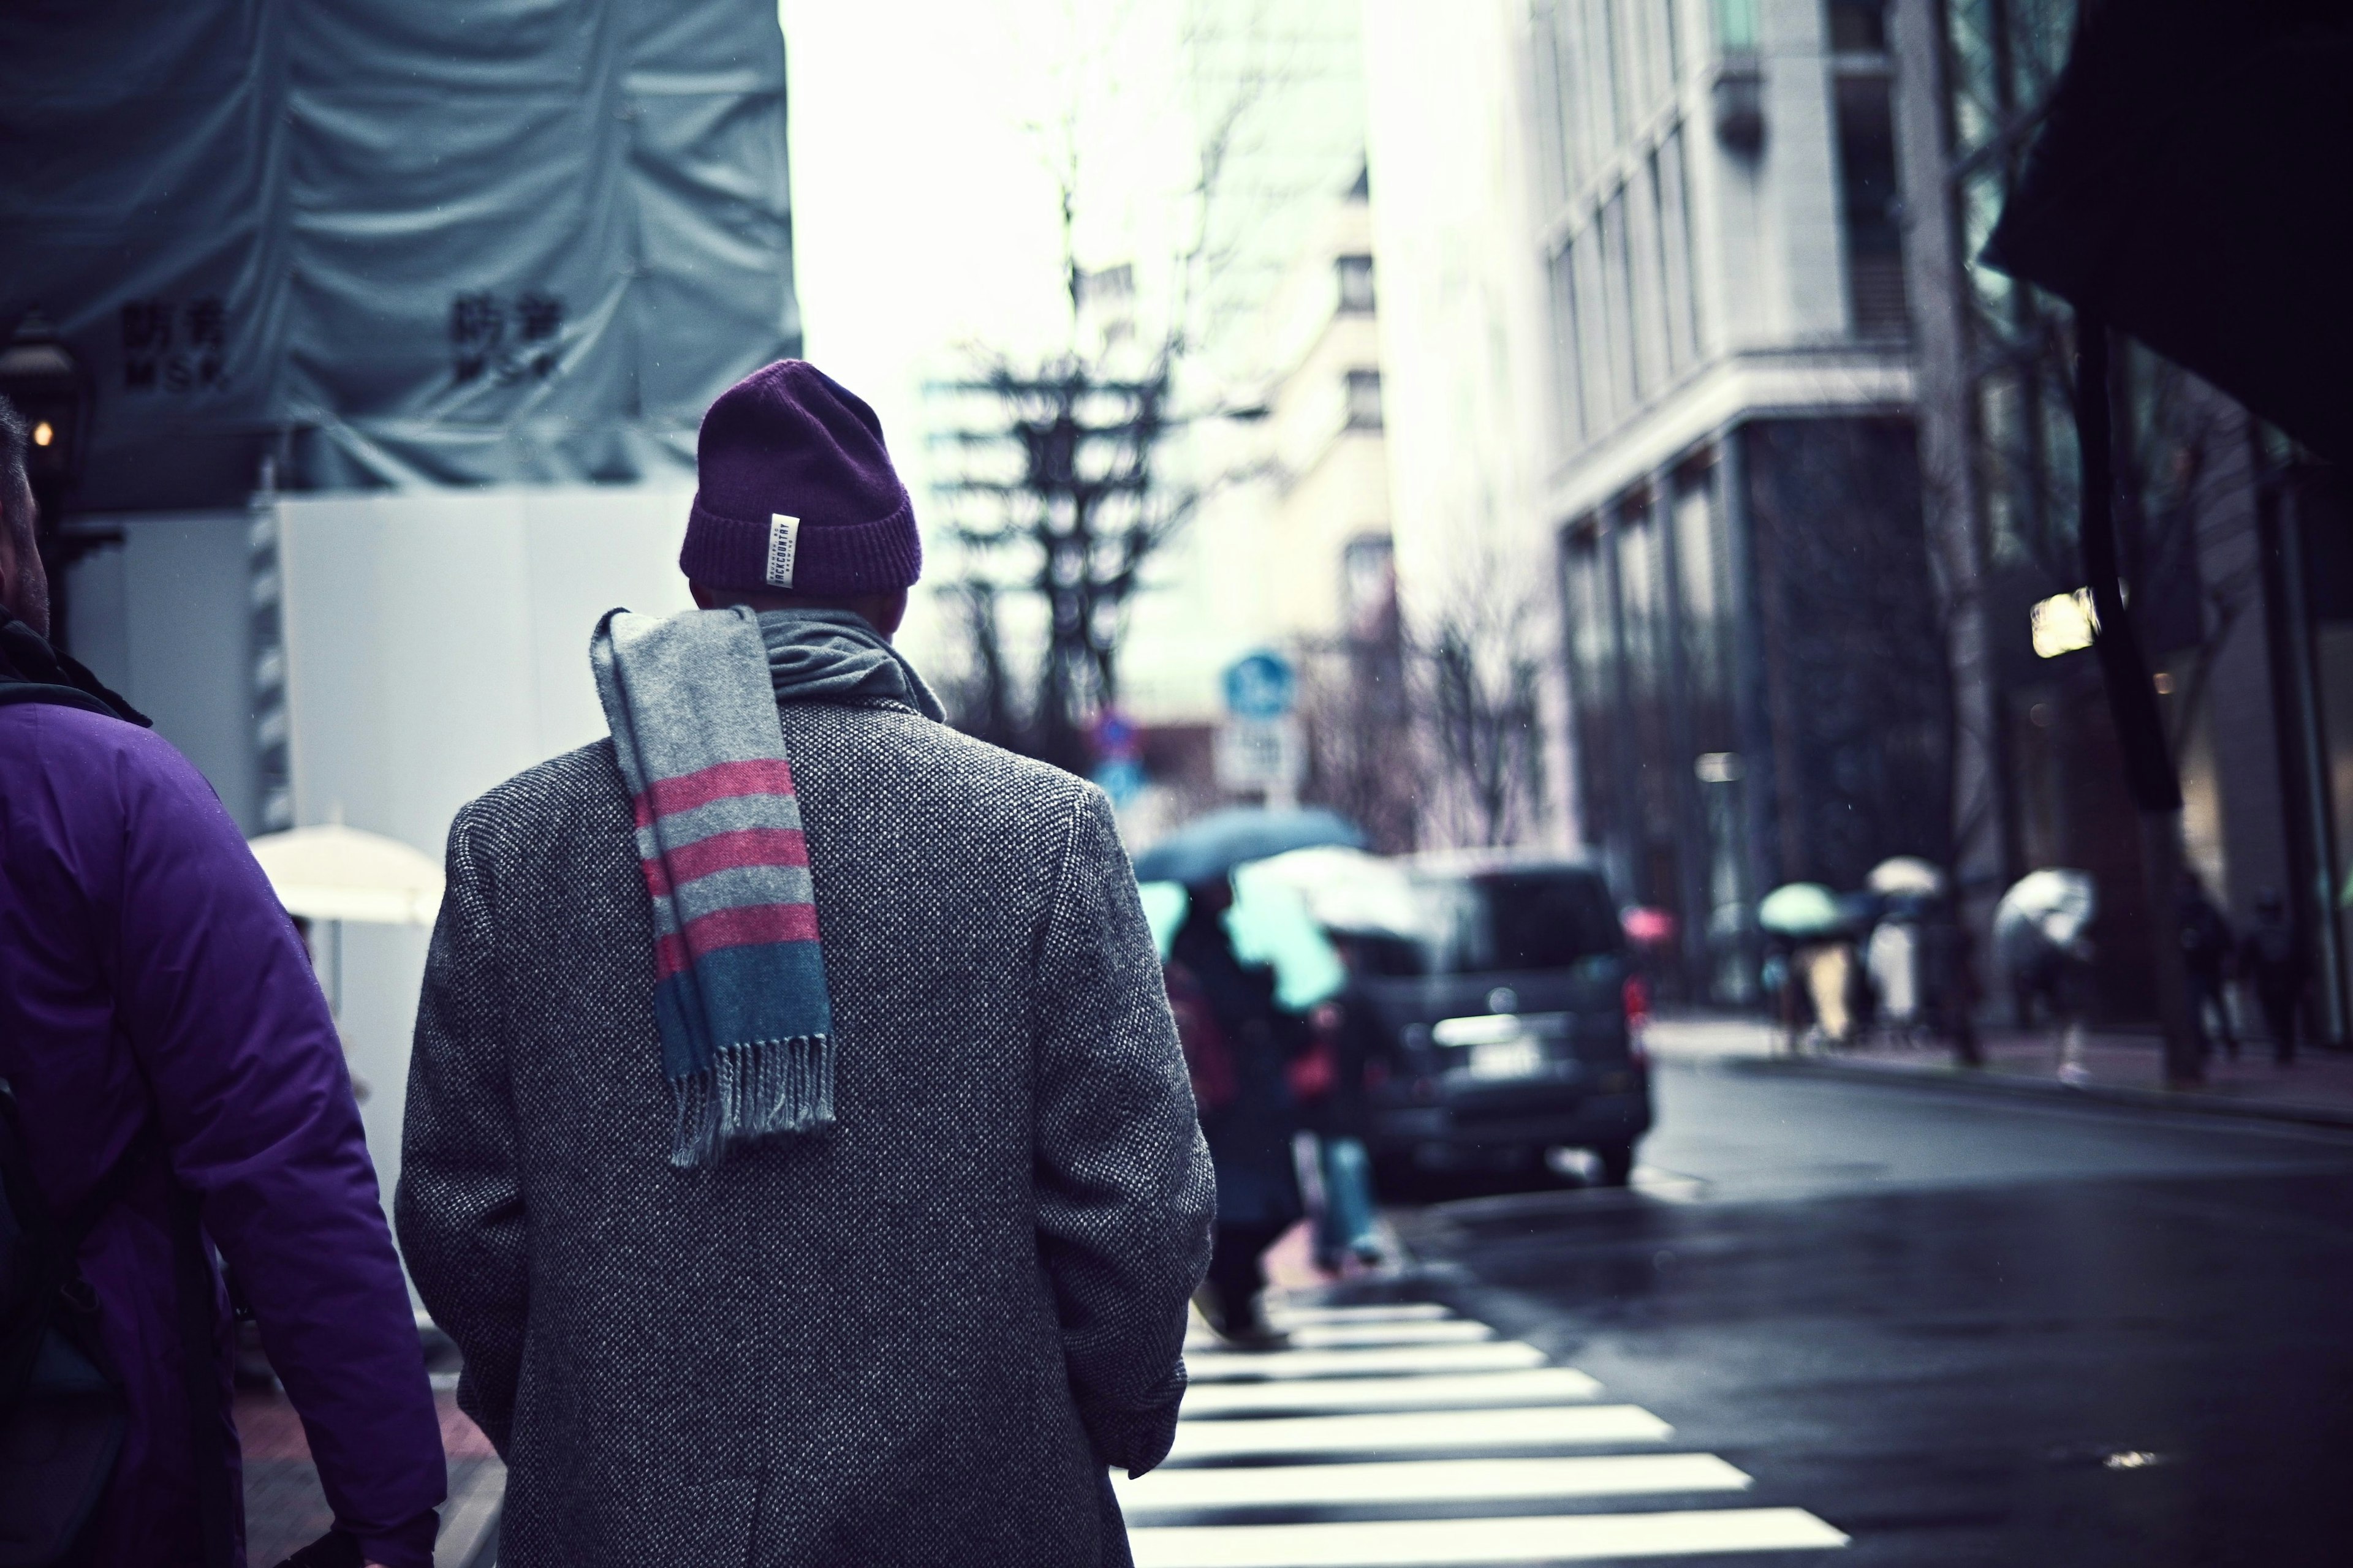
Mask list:
[[2217,1048],[2202,1086],[2167,1088],[2165,1053],[2155,1034],[2085,1032],[2068,1060],[2059,1032],[1986,1030],[1986,1065],[1974,1070],[1955,1067],[1946,1041],[1894,1034],[1873,1034],[1840,1051],[1791,1053],[1769,1023],[1737,1016],[1654,1018],[1645,1039],[1661,1060],[1739,1060],[1779,1072],[2353,1126],[2353,1056],[2306,1048],[2294,1065],[2278,1067],[2271,1041],[2242,1041],[2238,1060]]

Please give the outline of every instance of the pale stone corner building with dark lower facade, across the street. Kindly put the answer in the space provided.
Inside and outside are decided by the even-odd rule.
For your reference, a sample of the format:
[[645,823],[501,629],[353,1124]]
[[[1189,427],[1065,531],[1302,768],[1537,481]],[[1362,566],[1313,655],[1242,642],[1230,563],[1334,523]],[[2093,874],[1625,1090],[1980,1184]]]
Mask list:
[[1744,999],[1762,891],[1951,837],[1885,16],[1537,0],[1525,49],[1577,820]]

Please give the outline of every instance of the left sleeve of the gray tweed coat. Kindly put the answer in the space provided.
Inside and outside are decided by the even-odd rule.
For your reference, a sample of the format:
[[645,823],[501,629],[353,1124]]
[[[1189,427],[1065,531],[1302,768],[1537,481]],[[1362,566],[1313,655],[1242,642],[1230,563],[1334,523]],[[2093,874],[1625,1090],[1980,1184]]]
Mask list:
[[466,1354],[459,1408],[504,1455],[522,1375],[529,1255],[501,994],[489,889],[461,811],[449,825],[449,882],[416,1001],[393,1213],[416,1293]]

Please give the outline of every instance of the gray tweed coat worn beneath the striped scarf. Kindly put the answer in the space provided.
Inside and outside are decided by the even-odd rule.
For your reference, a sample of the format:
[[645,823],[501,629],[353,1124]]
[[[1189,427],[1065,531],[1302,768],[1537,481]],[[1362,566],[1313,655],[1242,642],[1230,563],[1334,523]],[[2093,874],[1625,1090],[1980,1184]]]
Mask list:
[[1108,802],[899,705],[784,736],[840,1124],[711,1173],[612,743],[449,830],[395,1208],[499,1561],[1127,1563],[1214,1182]]

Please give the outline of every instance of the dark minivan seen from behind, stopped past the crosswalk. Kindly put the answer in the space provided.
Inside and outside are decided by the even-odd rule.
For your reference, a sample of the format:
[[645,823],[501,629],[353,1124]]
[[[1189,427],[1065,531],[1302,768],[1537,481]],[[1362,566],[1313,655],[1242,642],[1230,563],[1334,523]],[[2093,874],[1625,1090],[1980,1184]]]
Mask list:
[[1391,1171],[1591,1150],[1624,1185],[1649,1131],[1647,1009],[1609,884],[1577,860],[1402,863],[1417,936],[1360,938],[1393,1053],[1369,1145]]

